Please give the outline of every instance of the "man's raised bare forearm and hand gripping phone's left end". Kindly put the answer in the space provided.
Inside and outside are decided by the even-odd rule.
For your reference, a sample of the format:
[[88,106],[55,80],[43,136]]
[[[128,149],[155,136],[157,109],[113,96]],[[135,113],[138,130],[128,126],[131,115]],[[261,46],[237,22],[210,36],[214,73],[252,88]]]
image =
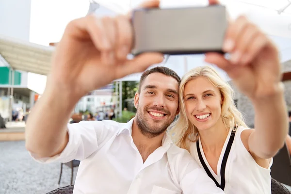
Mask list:
[[[158,6],[159,0],[151,0],[141,7]],[[127,60],[132,34],[129,16],[88,15],[67,25],[52,57],[46,91],[27,121],[29,151],[38,157],[62,152],[68,143],[67,121],[82,96],[162,62],[163,55],[154,52]]]

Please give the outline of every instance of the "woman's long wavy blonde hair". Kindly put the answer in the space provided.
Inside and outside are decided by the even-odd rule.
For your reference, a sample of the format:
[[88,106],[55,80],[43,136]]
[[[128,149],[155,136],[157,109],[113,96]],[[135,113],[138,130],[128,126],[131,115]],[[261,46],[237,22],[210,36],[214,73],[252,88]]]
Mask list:
[[196,67],[182,77],[179,88],[180,113],[177,121],[173,123],[170,129],[170,133],[172,133],[172,138],[176,145],[187,149],[188,151],[190,151],[190,143],[195,142],[198,139],[199,132],[187,118],[183,93],[185,84],[198,77],[206,78],[211,84],[219,89],[220,94],[223,97],[221,117],[226,129],[233,128],[235,125],[247,127],[242,117],[242,113],[240,113],[234,104],[234,91],[231,86],[218,75],[213,67]]

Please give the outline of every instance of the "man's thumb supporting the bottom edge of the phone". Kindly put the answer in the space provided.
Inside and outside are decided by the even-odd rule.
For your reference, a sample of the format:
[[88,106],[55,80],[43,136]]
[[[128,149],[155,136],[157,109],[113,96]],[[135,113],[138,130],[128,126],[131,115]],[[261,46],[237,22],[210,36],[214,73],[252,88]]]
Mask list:
[[123,78],[132,73],[139,73],[145,71],[149,66],[162,63],[163,55],[161,53],[148,52],[138,55],[125,64],[117,65],[115,75],[117,78]]

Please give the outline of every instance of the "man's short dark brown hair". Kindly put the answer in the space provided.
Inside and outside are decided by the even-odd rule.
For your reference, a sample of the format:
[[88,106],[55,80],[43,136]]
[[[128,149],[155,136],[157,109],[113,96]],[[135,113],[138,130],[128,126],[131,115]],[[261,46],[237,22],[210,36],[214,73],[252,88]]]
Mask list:
[[172,78],[175,78],[178,81],[179,85],[181,83],[181,78],[178,76],[178,74],[175,71],[173,71],[172,69],[170,69],[168,67],[157,66],[157,67],[154,67],[154,68],[151,68],[151,69],[145,71],[142,74],[139,85],[138,85],[138,93],[141,93],[141,86],[142,86],[144,80],[146,79],[146,77],[152,73],[162,73],[166,76],[171,76]]

